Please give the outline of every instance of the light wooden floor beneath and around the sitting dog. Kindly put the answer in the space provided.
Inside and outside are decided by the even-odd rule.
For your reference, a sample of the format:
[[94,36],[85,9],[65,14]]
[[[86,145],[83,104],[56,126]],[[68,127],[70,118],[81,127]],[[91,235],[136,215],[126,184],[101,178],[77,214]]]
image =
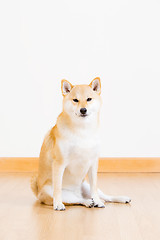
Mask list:
[[159,240],[160,173],[103,173],[99,187],[128,195],[131,204],[53,211],[30,190],[30,173],[0,174],[1,240]]

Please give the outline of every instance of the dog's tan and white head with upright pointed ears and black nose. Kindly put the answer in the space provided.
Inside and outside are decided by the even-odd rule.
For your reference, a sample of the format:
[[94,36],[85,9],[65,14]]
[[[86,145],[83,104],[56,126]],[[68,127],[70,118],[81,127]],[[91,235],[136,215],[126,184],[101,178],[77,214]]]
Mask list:
[[98,115],[101,106],[101,81],[95,78],[89,85],[73,86],[62,80],[63,111],[72,119],[86,121]]

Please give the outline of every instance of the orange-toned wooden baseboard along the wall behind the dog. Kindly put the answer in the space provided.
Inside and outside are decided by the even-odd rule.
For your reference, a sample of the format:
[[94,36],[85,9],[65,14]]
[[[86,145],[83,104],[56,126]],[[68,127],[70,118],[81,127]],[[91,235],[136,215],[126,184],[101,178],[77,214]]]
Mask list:
[[[37,172],[38,158],[0,158],[0,172]],[[100,158],[98,172],[160,172],[160,158]]]

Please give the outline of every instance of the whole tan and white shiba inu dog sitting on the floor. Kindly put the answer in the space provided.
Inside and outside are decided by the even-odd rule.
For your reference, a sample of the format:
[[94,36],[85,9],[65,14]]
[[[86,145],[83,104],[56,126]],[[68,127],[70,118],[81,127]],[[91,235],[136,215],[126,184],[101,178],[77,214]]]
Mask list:
[[129,203],[129,197],[97,189],[100,78],[75,86],[62,80],[61,90],[63,111],[42,144],[38,176],[31,179],[34,194],[55,210],[65,210],[64,204],[103,208],[104,202]]

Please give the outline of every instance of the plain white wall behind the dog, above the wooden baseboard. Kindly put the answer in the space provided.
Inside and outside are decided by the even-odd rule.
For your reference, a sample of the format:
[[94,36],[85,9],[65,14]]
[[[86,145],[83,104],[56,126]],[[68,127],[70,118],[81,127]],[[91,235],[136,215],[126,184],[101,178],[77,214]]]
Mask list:
[[101,156],[160,156],[160,2],[0,3],[0,156],[38,156],[60,81],[102,79]]

